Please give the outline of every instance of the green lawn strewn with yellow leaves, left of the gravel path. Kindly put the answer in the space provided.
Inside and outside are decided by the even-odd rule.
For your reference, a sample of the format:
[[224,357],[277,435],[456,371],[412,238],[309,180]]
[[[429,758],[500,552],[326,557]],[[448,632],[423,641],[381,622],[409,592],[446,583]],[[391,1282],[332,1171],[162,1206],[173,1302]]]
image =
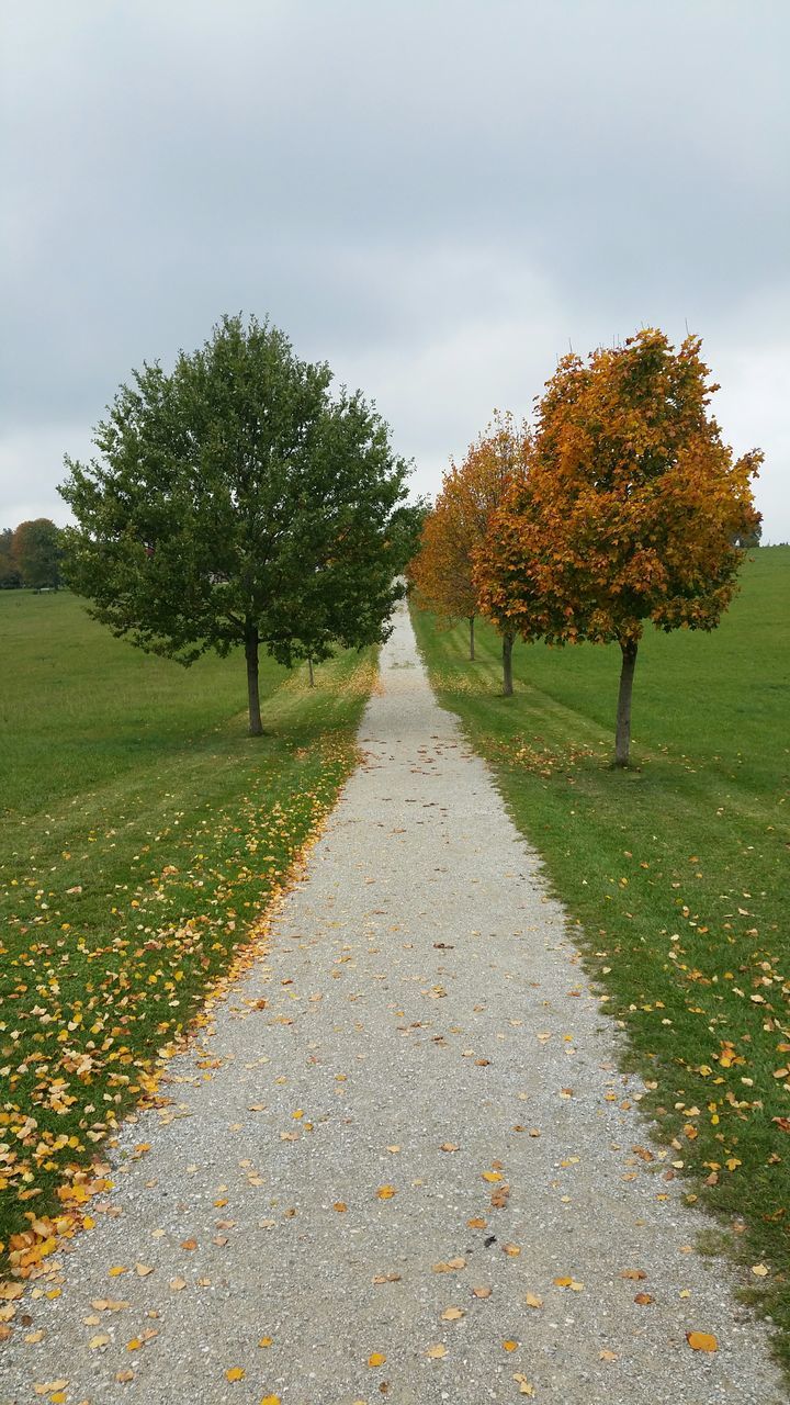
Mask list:
[[0,593],[0,1239],[37,1272],[332,806],[375,666],[266,660],[253,739],[243,659],[149,658],[67,593]]

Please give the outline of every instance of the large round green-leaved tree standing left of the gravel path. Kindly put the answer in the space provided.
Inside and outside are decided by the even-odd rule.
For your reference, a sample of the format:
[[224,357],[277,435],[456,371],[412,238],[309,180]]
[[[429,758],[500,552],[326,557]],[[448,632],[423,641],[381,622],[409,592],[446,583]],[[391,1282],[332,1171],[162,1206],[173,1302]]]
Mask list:
[[253,735],[261,645],[291,666],[375,643],[402,594],[388,532],[409,469],[330,381],[277,327],[226,316],[170,375],[132,372],[94,431],[101,461],[66,459],[69,583],[180,663],[242,645]]

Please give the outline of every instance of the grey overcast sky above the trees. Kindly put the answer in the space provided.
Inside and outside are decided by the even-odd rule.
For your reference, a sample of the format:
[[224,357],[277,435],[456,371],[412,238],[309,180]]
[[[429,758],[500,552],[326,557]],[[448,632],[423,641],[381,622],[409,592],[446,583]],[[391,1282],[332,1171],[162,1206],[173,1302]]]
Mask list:
[[270,316],[434,492],[495,406],[704,340],[790,540],[787,0],[28,0],[1,10],[0,525],[143,358]]

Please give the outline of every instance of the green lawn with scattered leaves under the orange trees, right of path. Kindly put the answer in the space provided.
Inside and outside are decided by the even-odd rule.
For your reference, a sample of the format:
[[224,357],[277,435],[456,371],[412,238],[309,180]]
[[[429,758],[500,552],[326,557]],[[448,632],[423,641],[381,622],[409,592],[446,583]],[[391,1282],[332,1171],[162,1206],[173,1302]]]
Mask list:
[[609,766],[617,648],[517,645],[505,698],[489,628],[470,663],[465,627],[413,617],[441,702],[578,923],[689,1200],[721,1217],[708,1248],[742,1264],[787,1366],[790,548],[753,554],[713,635],[645,636],[626,773]]

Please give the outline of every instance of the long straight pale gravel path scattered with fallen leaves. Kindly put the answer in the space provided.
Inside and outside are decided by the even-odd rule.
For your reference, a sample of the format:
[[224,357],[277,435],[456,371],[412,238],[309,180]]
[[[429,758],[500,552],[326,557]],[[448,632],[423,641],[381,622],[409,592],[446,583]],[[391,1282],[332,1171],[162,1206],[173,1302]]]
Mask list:
[[783,1401],[405,611],[360,739],[267,953],[124,1127],[59,1295],[28,1290],[0,1401]]

